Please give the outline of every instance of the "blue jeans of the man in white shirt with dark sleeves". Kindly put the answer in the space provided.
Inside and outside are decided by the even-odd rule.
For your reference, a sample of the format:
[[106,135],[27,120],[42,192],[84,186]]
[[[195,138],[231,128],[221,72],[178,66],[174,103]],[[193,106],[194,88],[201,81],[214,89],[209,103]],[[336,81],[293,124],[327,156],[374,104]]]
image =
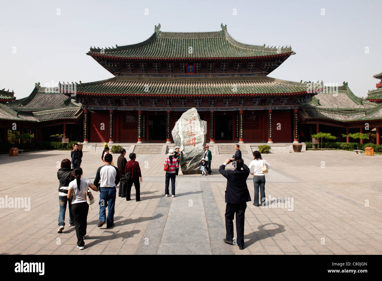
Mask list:
[[[106,227],[110,227],[114,223],[114,207],[115,207],[115,197],[117,195],[117,189],[112,188],[102,188],[99,194],[99,221],[106,221]],[[107,208],[107,219],[106,219],[106,207]]]

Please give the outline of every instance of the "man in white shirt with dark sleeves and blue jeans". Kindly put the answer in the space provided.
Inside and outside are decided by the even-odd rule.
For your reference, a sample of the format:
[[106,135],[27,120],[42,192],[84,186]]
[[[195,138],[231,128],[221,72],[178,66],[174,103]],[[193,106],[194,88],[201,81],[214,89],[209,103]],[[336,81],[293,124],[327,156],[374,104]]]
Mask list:
[[[112,165],[112,154],[106,154],[104,159],[105,165],[98,168],[94,179],[94,185],[98,186],[98,184],[100,184],[98,227],[101,227],[106,223],[106,227],[108,228],[114,225],[114,206],[115,197],[117,195],[115,186],[120,182],[120,174],[118,168]],[[106,207],[108,207],[107,219]]]

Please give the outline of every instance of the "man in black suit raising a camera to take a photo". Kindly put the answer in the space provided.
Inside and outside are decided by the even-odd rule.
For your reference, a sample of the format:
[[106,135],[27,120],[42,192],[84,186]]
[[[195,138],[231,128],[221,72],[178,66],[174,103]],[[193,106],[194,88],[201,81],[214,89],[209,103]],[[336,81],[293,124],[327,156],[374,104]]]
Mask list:
[[[244,164],[243,159],[237,159],[232,162],[235,169],[225,170],[225,166],[230,162],[227,158],[225,163],[219,167],[219,172],[227,179],[227,188],[225,190],[225,229],[226,238],[223,241],[227,244],[233,244],[233,217],[236,213],[236,233],[239,249],[244,249],[244,212],[247,203],[251,201],[246,180],[249,175],[249,168]],[[243,169],[241,169],[243,168]]]

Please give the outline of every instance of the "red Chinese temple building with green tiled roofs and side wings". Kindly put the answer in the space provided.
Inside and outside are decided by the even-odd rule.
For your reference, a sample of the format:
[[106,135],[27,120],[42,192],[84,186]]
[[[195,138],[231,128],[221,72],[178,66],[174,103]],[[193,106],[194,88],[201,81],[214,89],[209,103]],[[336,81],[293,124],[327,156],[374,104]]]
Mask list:
[[[58,126],[57,133],[71,132],[84,143],[163,143],[173,141],[175,122],[195,107],[207,122],[207,143],[291,143],[300,132],[319,131],[341,138],[362,131],[365,122],[379,136],[381,82],[365,100],[345,82],[332,89],[322,81],[268,76],[294,54],[290,46],[238,42],[223,24],[214,32],[164,32],[159,24],[141,43],[90,48],[87,55],[112,73],[110,79],[56,89],[36,84],[16,101],[1,92],[0,119],[8,120],[8,130],[19,118],[24,128],[37,130],[38,140]],[[45,135],[44,128],[50,128]]]

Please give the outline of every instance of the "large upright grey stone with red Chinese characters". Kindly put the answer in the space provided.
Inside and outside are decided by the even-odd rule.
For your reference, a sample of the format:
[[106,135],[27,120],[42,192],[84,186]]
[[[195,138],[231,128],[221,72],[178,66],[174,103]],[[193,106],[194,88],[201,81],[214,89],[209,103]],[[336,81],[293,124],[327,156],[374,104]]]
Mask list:
[[206,122],[200,119],[195,107],[187,110],[172,129],[175,146],[183,147],[180,168],[183,174],[199,174],[206,146]]

